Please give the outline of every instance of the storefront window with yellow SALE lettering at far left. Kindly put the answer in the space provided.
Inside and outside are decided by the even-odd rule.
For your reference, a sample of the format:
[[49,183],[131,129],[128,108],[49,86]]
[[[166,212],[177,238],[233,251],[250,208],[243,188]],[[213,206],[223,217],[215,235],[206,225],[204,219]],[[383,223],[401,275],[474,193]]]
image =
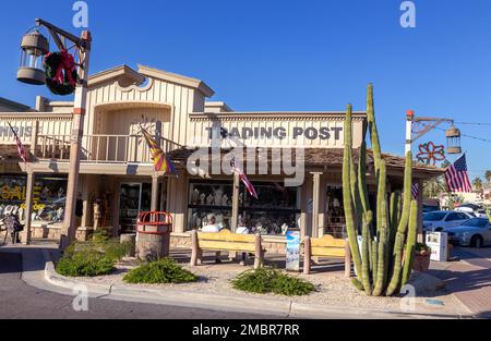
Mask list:
[[[17,215],[25,220],[26,178],[0,176],[0,218]],[[67,202],[67,178],[36,175],[33,191],[33,221],[63,221]]]

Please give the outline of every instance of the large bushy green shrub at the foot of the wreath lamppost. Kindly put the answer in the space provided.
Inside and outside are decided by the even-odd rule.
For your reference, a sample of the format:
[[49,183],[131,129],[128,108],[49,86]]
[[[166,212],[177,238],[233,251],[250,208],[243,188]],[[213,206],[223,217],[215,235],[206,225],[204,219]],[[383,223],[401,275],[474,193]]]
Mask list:
[[130,244],[109,240],[107,234],[97,233],[91,242],[74,243],[63,253],[56,270],[68,277],[95,277],[108,275],[124,255]]

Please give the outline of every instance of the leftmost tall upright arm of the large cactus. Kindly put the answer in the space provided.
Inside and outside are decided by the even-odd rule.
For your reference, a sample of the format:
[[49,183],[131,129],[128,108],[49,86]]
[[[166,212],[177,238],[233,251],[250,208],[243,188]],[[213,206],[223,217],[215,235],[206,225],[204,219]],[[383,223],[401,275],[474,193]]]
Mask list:
[[[362,278],[361,271],[361,255],[358,246],[358,231],[355,227],[355,215],[354,215],[354,206],[352,206],[352,196],[350,193],[351,181],[350,181],[350,155],[351,155],[351,146],[352,146],[352,137],[351,137],[351,129],[352,129],[352,106],[348,105],[346,111],[346,121],[345,121],[345,154],[343,160],[343,202],[345,208],[345,218],[346,218],[346,230],[348,232],[349,245],[351,247],[351,255],[355,263],[355,269],[357,271],[358,277]],[[352,161],[352,160],[351,160]]]

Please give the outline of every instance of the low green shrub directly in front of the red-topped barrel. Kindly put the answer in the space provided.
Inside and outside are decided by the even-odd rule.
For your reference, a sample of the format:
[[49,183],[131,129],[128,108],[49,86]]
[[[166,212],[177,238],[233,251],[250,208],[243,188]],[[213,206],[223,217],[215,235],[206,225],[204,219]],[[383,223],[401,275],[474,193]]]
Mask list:
[[199,277],[176,263],[172,258],[152,261],[128,272],[123,280],[128,283],[165,284],[197,281]]

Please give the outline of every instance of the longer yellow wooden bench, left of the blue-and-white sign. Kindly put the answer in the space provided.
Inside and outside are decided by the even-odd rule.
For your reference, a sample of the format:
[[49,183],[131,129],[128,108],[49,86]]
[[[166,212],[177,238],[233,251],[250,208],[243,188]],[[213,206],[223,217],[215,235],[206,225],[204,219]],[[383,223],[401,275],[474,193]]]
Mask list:
[[191,232],[192,254],[191,266],[201,264],[203,251],[247,252],[254,254],[254,269],[261,266],[264,249],[261,245],[261,234],[237,234],[229,230],[218,233]]

